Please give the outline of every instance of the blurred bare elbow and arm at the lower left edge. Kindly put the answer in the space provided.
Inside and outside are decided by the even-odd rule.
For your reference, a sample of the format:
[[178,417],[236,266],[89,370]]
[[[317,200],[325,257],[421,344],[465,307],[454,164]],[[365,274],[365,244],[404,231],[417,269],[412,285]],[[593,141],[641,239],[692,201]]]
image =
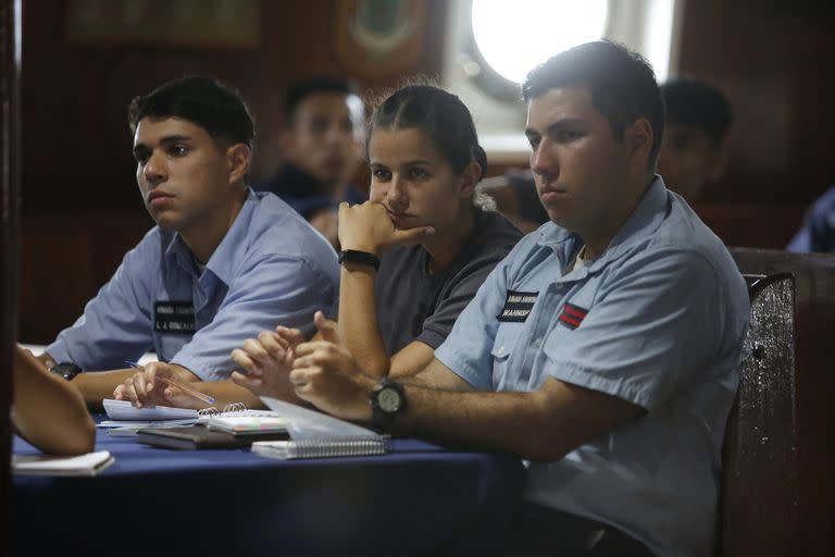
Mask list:
[[96,443],[96,424],[78,389],[20,346],[14,350],[12,423],[45,453],[83,455]]

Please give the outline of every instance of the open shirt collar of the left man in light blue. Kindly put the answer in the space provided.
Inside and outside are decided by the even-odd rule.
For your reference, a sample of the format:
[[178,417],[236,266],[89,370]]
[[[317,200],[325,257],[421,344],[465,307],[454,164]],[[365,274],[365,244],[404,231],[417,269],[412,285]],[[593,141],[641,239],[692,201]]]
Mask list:
[[[232,283],[238,260],[245,255],[245,250],[240,249],[240,246],[246,239],[249,222],[252,220],[256,207],[258,207],[258,196],[252,191],[252,188],[247,188],[247,198],[244,200],[244,207],[241,207],[240,212],[235,218],[235,222],[232,223],[232,227],[226,232],[226,235],[205,264],[205,271],[211,271],[226,286]],[[194,255],[178,232],[174,234],[174,237],[169,243],[165,249],[165,257],[176,258],[179,267],[190,274],[197,275]],[[205,271],[201,278],[205,276]]]

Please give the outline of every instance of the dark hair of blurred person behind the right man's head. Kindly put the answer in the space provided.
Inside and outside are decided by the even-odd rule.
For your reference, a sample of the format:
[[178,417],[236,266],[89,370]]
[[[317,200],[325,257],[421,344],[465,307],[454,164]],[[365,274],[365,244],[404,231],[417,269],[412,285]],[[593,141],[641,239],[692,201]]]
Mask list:
[[715,87],[693,78],[670,79],[661,85],[670,124],[703,129],[714,146],[724,139],[733,116],[731,104]]

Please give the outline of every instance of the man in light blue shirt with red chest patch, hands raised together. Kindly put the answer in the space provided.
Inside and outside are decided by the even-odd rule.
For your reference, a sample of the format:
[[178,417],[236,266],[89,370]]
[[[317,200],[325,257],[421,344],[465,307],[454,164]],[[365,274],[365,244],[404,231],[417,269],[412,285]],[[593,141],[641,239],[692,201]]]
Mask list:
[[524,96],[551,222],[413,377],[370,376],[317,314],[324,341],[294,347],[288,381],[341,418],[524,458],[509,555],[711,555],[745,283],[655,172],[664,110],[640,57],[582,45]]

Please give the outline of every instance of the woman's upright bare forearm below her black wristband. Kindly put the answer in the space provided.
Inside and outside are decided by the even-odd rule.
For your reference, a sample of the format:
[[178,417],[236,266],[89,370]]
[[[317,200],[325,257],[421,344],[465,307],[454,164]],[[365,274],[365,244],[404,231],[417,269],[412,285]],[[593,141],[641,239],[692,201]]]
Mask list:
[[344,263],[339,283],[339,336],[360,367],[387,375],[390,360],[383,343],[374,296],[372,267]]

